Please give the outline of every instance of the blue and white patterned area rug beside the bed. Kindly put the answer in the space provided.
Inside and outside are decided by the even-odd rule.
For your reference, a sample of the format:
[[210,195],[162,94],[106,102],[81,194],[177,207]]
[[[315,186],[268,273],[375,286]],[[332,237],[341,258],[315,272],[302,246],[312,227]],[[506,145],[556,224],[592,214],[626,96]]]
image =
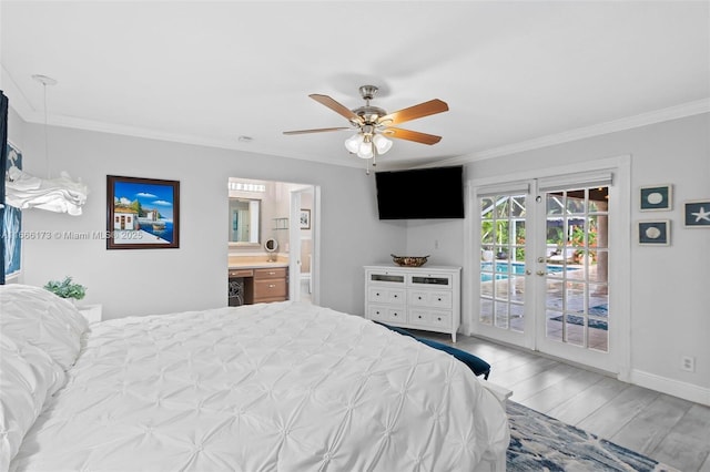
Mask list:
[[508,400],[507,412],[508,471],[680,472],[520,403]]

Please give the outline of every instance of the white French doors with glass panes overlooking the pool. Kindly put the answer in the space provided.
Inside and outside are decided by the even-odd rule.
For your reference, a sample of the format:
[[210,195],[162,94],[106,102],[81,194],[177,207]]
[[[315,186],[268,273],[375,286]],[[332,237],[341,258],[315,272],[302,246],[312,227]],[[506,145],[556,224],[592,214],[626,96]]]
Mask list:
[[471,281],[474,332],[618,371],[611,177],[562,175],[475,188],[480,274]]

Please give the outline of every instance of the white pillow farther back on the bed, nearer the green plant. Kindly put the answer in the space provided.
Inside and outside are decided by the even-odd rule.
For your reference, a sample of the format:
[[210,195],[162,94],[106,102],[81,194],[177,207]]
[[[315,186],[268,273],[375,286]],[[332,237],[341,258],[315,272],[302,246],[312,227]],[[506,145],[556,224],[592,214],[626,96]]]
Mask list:
[[87,320],[68,300],[29,285],[0,286],[0,331],[50,355],[64,370],[79,356]]

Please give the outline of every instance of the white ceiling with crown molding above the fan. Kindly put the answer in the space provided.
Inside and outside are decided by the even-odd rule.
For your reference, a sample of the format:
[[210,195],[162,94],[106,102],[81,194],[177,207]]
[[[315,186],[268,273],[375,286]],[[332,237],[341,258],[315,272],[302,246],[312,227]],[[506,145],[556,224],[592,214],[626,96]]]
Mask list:
[[[348,126],[308,98],[387,112],[449,111],[399,125],[378,167],[493,158],[710,111],[707,1],[8,1],[0,88],[22,119],[364,165]],[[240,136],[248,136],[246,141]],[[250,141],[251,140],[251,141]]]

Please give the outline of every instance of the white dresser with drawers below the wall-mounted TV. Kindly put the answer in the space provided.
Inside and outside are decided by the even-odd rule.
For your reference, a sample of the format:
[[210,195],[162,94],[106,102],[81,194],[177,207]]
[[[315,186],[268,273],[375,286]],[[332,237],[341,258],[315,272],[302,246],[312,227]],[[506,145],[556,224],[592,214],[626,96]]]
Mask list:
[[365,318],[400,328],[449,332],[460,325],[460,267],[365,266]]

